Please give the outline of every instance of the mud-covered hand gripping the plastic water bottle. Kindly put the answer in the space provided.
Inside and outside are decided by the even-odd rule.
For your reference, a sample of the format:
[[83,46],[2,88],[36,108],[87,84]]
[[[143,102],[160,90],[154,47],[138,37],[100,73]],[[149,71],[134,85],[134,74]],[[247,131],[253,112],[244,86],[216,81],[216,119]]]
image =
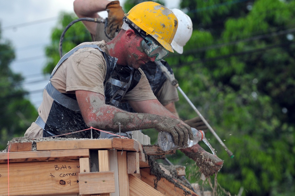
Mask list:
[[188,139],[194,139],[191,127],[180,119],[169,117],[161,119],[156,129],[171,133],[174,143],[178,146],[186,147]]

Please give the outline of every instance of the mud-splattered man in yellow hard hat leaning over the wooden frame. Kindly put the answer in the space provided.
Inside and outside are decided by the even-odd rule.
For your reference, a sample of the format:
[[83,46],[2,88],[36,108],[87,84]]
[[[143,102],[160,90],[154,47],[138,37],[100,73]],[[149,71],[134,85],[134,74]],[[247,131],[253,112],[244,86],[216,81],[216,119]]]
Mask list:
[[[173,52],[176,16],[148,1],[134,6],[126,20],[125,29],[110,42],[82,43],[61,58],[45,86],[39,117],[25,137],[90,138],[90,131],[81,130],[92,126],[117,131],[120,125],[122,132],[148,128],[169,132],[179,146],[193,139],[191,127],[160,104],[139,69]],[[141,113],[118,109],[122,99]],[[98,135],[99,131],[93,133]]]

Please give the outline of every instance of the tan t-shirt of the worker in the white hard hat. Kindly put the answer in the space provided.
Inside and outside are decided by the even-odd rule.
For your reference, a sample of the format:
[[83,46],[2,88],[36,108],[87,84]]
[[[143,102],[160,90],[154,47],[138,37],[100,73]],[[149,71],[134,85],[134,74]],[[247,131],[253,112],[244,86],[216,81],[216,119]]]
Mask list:
[[[117,35],[117,32],[115,33]],[[92,40],[94,41],[101,41],[105,40],[106,42],[111,41],[108,37],[106,37],[105,32],[104,32],[104,23],[97,23],[96,27],[96,34],[91,35]],[[145,65],[141,66],[142,68]],[[143,68],[144,69],[144,68]],[[176,102],[179,101],[177,89],[175,86],[171,84],[171,82],[166,79],[164,84],[161,86],[160,90],[158,91],[157,94],[155,94],[157,99],[162,105],[167,105],[171,102]]]

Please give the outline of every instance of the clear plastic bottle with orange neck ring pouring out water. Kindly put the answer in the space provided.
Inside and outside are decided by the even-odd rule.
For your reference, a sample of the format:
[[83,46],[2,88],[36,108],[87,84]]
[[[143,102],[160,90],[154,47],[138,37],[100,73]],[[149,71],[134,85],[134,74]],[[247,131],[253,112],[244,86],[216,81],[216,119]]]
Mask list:
[[[186,148],[194,146],[196,143],[203,140],[203,137],[205,135],[204,131],[202,131],[202,130],[197,130],[195,128],[191,128],[191,131],[194,134],[194,140],[189,139],[189,141],[187,142],[188,146],[186,146]],[[158,144],[159,144],[162,151],[169,151],[169,150],[182,148],[180,146],[177,146],[174,143],[174,139],[173,139],[173,136],[171,135],[171,133],[164,132],[164,131],[161,131],[158,134]]]

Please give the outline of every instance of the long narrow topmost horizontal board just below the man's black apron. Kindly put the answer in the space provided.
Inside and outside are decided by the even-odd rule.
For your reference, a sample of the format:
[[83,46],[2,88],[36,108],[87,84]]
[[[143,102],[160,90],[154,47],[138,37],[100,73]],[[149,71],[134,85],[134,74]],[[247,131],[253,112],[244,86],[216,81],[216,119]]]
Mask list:
[[112,139],[40,141],[37,151],[70,149],[112,149]]

